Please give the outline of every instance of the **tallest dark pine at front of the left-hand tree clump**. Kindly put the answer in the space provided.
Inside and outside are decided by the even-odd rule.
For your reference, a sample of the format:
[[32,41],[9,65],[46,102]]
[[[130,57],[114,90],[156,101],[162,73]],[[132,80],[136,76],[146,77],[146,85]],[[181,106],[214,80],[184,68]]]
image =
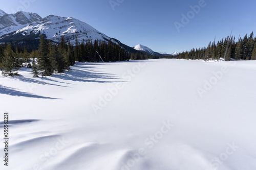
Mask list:
[[40,36],[40,44],[38,48],[38,70],[41,71],[42,76],[52,75],[53,69],[48,55],[48,46],[44,36]]

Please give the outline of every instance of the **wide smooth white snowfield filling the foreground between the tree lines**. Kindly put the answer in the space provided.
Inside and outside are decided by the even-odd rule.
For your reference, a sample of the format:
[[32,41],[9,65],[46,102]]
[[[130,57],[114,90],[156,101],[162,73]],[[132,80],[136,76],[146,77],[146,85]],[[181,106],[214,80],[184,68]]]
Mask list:
[[47,170],[256,169],[256,61],[76,63],[0,76],[9,166]]

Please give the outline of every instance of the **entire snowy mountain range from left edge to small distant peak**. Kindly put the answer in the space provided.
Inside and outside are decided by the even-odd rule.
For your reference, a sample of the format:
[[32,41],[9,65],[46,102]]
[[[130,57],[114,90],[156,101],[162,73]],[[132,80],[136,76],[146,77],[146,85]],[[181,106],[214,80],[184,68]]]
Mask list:
[[109,41],[112,39],[113,42],[123,46],[125,50],[131,53],[143,51],[149,55],[165,56],[141,44],[134,47],[127,46],[119,40],[97,31],[87,23],[72,17],[49,15],[41,18],[36,13],[19,11],[15,14],[7,14],[0,9],[0,43],[10,40],[23,43],[23,41],[31,39],[37,40],[39,43],[41,34],[54,42],[60,42],[61,36],[64,35],[65,40],[71,44],[75,44],[76,38],[78,42],[87,40]]

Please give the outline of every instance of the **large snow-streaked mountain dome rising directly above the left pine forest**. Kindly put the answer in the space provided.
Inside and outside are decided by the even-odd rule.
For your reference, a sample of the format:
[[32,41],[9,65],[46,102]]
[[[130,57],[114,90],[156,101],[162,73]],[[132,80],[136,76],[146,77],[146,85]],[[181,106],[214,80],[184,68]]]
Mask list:
[[109,40],[110,37],[100,33],[90,25],[72,17],[59,17],[49,15],[39,22],[17,30],[13,34],[22,33],[29,34],[45,34],[48,39],[59,42],[61,36],[64,35],[71,43],[75,42],[77,37],[78,41],[91,39],[104,41]]

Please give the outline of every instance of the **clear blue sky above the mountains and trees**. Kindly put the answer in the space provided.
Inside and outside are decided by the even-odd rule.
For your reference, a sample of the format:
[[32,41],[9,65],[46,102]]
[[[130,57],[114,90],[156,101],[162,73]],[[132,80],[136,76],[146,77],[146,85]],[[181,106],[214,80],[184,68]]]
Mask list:
[[[109,0],[0,0],[0,9],[6,13],[25,9],[41,17],[50,14],[72,16],[129,46],[142,44],[156,52],[182,52],[203,47],[215,36],[217,41],[228,36],[232,28],[237,38],[239,34],[244,37],[251,31],[256,35],[254,0],[205,0],[205,3],[201,2],[203,0],[113,1],[120,2],[115,10]],[[203,7],[193,15],[189,6],[200,2]],[[174,23],[182,23],[181,14],[186,16],[187,13],[191,14],[191,19],[178,32]]]

